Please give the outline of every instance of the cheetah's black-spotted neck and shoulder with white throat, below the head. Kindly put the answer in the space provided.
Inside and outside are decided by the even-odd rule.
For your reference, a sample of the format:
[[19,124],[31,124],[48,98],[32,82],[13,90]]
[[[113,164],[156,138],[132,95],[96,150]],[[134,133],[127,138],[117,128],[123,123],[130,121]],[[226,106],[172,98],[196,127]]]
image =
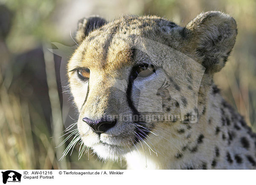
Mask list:
[[150,154],[147,147],[129,153],[128,169],[256,168],[256,134],[223,100],[215,85],[210,86],[207,96],[198,99],[198,112],[197,123],[172,126],[186,128],[178,137],[162,133],[165,139],[155,139],[157,155]]

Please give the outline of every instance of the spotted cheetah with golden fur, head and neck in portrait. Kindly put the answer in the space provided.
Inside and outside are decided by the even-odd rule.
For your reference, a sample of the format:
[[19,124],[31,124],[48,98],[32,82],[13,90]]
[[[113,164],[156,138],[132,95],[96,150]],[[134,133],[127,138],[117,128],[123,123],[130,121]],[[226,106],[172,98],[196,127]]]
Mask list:
[[213,82],[236,35],[220,11],[184,27],[151,15],[79,20],[67,64],[76,140],[128,169],[256,169],[256,134]]

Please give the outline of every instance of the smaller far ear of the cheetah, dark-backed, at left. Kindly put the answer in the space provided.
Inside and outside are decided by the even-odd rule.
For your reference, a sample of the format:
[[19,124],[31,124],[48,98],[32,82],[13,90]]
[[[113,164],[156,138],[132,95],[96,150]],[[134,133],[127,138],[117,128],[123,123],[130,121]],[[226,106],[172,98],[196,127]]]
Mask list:
[[78,21],[76,40],[81,43],[84,38],[93,30],[105,25],[107,21],[102,17],[94,16],[83,18]]

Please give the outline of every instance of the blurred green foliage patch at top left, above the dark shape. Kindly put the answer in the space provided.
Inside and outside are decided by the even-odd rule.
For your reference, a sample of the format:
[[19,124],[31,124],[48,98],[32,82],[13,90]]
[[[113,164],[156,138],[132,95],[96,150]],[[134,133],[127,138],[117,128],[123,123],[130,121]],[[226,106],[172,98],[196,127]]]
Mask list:
[[44,40],[58,37],[50,15],[54,11],[54,0],[8,0],[5,5],[14,14],[12,30],[7,39],[14,52],[32,49]]

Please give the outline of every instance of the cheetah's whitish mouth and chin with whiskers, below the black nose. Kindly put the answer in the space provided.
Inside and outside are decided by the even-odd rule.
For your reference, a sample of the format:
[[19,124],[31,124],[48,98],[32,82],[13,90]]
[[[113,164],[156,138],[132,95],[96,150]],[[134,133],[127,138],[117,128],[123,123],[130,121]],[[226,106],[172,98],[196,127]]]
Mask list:
[[133,128],[128,129],[128,131],[122,128],[119,129],[119,132],[116,132],[116,128],[113,127],[113,129],[99,134],[81,124],[81,127],[79,127],[80,136],[84,145],[92,148],[100,158],[119,159],[136,150],[137,143],[143,142],[151,130],[144,122],[129,122],[129,125],[133,125]]

